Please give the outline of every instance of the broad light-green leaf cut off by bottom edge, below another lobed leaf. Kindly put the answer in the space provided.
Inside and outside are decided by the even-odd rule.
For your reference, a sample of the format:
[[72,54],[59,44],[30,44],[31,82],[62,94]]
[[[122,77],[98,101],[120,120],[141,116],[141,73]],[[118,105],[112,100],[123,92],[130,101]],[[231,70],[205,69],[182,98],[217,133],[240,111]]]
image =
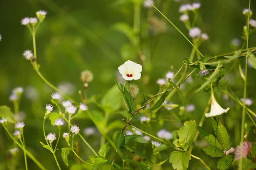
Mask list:
[[172,163],[173,169],[186,170],[189,160],[191,160],[189,151],[174,151],[171,152],[169,162]]

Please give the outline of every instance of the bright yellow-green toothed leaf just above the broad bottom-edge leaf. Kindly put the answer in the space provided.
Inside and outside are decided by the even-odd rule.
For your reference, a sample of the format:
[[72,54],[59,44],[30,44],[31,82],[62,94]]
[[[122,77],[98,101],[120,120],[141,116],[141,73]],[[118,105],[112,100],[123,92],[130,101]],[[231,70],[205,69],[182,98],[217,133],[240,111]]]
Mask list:
[[183,144],[189,143],[196,134],[196,121],[186,121],[183,126],[177,131],[179,138],[183,141]]

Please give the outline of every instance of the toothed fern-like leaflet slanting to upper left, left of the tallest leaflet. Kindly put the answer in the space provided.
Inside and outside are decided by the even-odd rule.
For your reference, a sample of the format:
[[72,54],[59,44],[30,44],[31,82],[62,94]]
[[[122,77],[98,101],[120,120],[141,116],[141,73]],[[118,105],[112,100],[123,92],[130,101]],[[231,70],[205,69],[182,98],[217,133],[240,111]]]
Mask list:
[[213,147],[216,147],[218,149],[223,150],[223,146],[220,144],[218,139],[216,139],[213,136],[213,134],[210,134],[209,132],[207,132],[204,128],[202,128],[199,125],[197,125],[197,130],[207,140],[207,142],[209,142],[210,145],[212,145]]

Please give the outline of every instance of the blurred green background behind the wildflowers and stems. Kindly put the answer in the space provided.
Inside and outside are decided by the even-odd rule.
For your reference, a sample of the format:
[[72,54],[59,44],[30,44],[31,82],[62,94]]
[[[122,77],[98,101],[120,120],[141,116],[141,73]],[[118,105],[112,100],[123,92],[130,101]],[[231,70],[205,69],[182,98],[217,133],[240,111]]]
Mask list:
[[[184,3],[193,3],[194,1],[181,0],[159,0],[160,11],[164,13],[183,33],[188,36],[188,31],[184,24],[179,21],[179,6]],[[198,2],[198,1],[196,1]],[[233,51],[230,48],[230,41],[233,38],[240,38],[245,24],[245,17],[242,10],[248,7],[245,0],[201,0],[198,20],[198,27],[206,32],[210,39],[203,43],[199,50],[203,54],[212,56]],[[156,84],[158,78],[164,78],[170,66],[178,71],[185,57],[189,57],[192,50],[191,45],[182,35],[163,17],[152,8],[141,6],[141,46],[134,48],[129,38],[117,30],[116,23],[126,23],[133,27],[133,1],[132,0],[94,0],[94,1],[60,1],[60,0],[2,0],[0,2],[0,104],[13,108],[9,101],[9,95],[15,87],[25,89],[20,110],[26,116],[25,140],[28,150],[30,150],[38,160],[43,163],[47,169],[57,169],[52,154],[43,149],[39,141],[43,138],[43,116],[45,104],[50,103],[50,95],[55,92],[33,70],[31,64],[22,56],[23,51],[33,50],[32,36],[26,26],[20,24],[24,17],[36,17],[36,11],[42,9],[48,13],[41,24],[37,35],[37,58],[41,65],[40,71],[44,77],[53,85],[62,87],[63,92],[80,100],[78,90],[83,89],[83,84],[79,80],[80,72],[91,70],[94,79],[90,83],[88,97],[100,94],[103,96],[115,82],[113,78],[118,79],[118,66],[127,60],[132,60],[141,64],[137,53],[141,50],[145,56],[143,64],[142,78],[133,81],[140,88],[140,94],[136,100],[138,104],[143,99],[144,94],[155,94],[159,87]],[[143,3],[142,3],[143,4]],[[256,2],[251,2],[251,9],[254,12],[252,18],[256,18]],[[149,30],[148,15],[155,16],[166,24],[166,30],[160,34],[151,33]],[[204,27],[202,27],[202,21]],[[122,28],[123,26],[123,28]],[[119,29],[124,29],[124,25]],[[242,39],[241,39],[242,41]],[[249,40],[249,47],[256,46],[256,35],[252,34]],[[244,63],[244,60],[241,60]],[[244,64],[243,64],[244,65]],[[227,65],[227,69],[230,66]],[[228,77],[230,87],[236,92],[238,97],[243,94],[243,81],[239,76],[238,68]],[[195,74],[192,76],[192,82],[184,83],[181,92],[186,98],[186,104],[194,104],[196,110],[189,113],[190,120],[196,120],[198,123],[200,117],[207,105],[209,93],[193,93],[193,89],[198,88],[203,81]],[[68,84],[67,86],[67,83]],[[60,86],[62,85],[62,86]],[[67,90],[68,87],[68,90]],[[248,97],[255,99],[255,70],[248,69]],[[100,100],[100,99],[99,99]],[[171,99],[174,103],[181,104],[178,93]],[[241,118],[241,107],[234,103],[227,102],[220,98],[217,100],[221,106],[231,105],[230,111],[221,116],[224,124],[228,128],[233,146],[239,143],[239,125]],[[250,106],[255,111],[255,106]],[[92,110],[99,110],[95,105],[89,105]],[[123,107],[125,109],[125,107]],[[123,109],[123,110],[124,110]],[[86,118],[86,117],[85,117]],[[118,117],[121,119],[123,116]],[[112,118],[113,120],[114,118]],[[74,120],[81,127],[81,133],[86,127],[94,126],[88,119]],[[206,119],[204,127],[211,131],[210,119]],[[137,121],[138,123],[138,121]],[[136,121],[135,121],[136,124]],[[168,131],[179,129],[181,124],[166,123],[164,128]],[[250,130],[248,123],[247,130]],[[118,129],[120,130],[120,129]],[[159,129],[158,129],[159,130]],[[157,130],[155,130],[157,131]],[[46,123],[46,133],[57,132],[50,122]],[[110,135],[111,136],[111,135]],[[111,136],[112,137],[112,136]],[[254,136],[255,137],[255,136]],[[86,136],[86,139],[92,144],[95,150],[100,147],[100,133],[94,136]],[[199,137],[201,139],[201,137]],[[252,137],[254,140],[254,138]],[[251,139],[251,140],[252,140]],[[80,139],[77,137],[77,141]],[[200,142],[200,140],[199,140]],[[6,164],[10,160],[8,153],[12,145],[11,139],[0,127],[0,169],[7,169]],[[203,145],[203,144],[198,144]],[[60,141],[60,147],[67,147],[64,140]],[[200,148],[200,147],[199,147]],[[91,151],[79,142],[82,158],[87,159],[92,155]],[[21,151],[21,150],[20,150]],[[194,149],[194,155],[201,156],[209,166],[215,169],[216,160],[206,155],[202,149]],[[163,157],[168,158],[170,152],[163,153]],[[67,167],[61,160],[60,151],[57,151],[59,163],[63,169],[77,169],[76,159],[70,154],[70,166]],[[112,160],[114,150],[111,148],[109,159]],[[20,152],[20,162],[18,169],[24,169],[23,154]],[[117,159],[120,163],[120,159]],[[28,158],[29,169],[38,169],[38,167]],[[73,166],[72,166],[73,165]],[[168,167],[168,168],[167,168]],[[163,169],[170,169],[167,162]],[[82,168],[83,169],[83,168]],[[195,159],[189,164],[189,169],[204,169],[203,165]]]

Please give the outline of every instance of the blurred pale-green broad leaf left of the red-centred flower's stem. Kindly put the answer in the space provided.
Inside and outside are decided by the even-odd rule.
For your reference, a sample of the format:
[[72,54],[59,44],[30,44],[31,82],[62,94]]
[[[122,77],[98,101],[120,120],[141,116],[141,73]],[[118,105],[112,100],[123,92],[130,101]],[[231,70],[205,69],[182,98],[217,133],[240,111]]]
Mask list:
[[121,96],[118,95],[119,90],[118,87],[112,86],[111,89],[109,89],[106,94],[102,97],[101,105],[105,111],[113,112],[117,111],[121,107]]

